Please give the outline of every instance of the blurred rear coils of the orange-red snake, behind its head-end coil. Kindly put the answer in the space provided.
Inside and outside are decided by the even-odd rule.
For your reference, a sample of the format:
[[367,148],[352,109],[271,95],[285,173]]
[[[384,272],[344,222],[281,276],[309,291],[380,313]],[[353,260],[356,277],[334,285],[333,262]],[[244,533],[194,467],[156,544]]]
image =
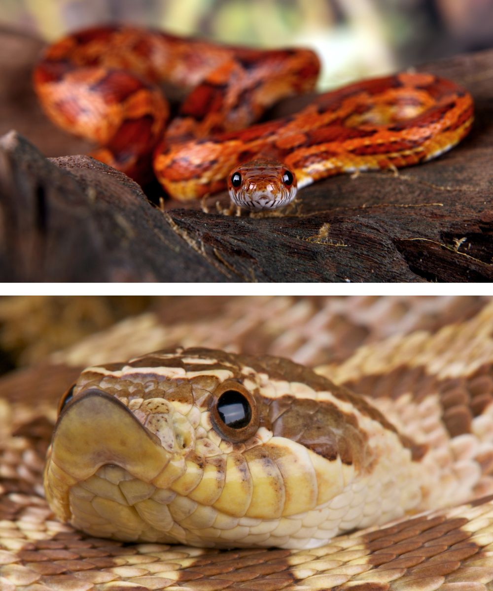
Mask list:
[[101,145],[98,160],[149,177],[169,106],[159,84],[188,93],[167,141],[243,129],[279,99],[313,89],[310,50],[260,51],[131,27],[99,27],[50,46],[34,72],[47,115]]

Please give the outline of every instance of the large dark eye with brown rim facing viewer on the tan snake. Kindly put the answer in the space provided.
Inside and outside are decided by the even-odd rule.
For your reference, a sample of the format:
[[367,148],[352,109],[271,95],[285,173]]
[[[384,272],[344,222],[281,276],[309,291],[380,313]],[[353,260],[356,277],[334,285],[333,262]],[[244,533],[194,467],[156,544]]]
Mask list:
[[227,379],[212,395],[212,423],[223,439],[244,441],[256,433],[259,428],[257,404],[243,384]]

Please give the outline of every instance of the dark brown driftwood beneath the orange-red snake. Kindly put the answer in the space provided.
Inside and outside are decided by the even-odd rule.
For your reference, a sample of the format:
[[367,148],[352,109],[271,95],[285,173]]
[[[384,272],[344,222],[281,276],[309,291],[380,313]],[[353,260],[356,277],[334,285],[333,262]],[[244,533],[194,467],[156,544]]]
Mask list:
[[[0,50],[4,37],[22,47],[21,36],[5,33]],[[476,121],[459,147],[398,174],[320,181],[299,191],[299,202],[282,215],[236,217],[220,213],[225,194],[207,200],[209,213],[170,200],[159,209],[136,183],[92,158],[44,158],[33,144],[46,155],[89,145],[50,131],[33,106],[25,82],[33,43],[25,40],[18,76],[0,88],[0,129],[9,112],[17,113],[12,120],[32,142],[13,132],[0,140],[1,281],[493,280],[493,50],[420,67],[459,82],[475,98]],[[21,85],[24,108],[6,83]],[[159,202],[155,187],[147,194]]]

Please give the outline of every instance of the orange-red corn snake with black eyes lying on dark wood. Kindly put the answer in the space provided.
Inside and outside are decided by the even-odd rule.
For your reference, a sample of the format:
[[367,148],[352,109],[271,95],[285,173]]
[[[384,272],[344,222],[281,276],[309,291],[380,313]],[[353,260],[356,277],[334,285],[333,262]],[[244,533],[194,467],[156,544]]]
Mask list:
[[[471,129],[471,95],[423,72],[363,80],[259,122],[279,100],[311,92],[319,69],[303,48],[222,46],[120,25],[49,46],[34,88],[51,121],[96,142],[91,155],[138,183],[154,174],[182,202],[228,189],[249,210],[291,203],[334,174],[430,160]],[[170,88],[183,99],[173,117]]]

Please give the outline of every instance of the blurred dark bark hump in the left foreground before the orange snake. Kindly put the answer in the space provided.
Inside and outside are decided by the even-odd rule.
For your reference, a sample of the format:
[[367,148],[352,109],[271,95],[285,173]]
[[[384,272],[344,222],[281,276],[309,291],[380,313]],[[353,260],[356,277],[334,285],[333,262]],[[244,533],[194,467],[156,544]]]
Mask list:
[[87,156],[54,162],[16,132],[0,139],[3,281],[228,281],[130,178]]

